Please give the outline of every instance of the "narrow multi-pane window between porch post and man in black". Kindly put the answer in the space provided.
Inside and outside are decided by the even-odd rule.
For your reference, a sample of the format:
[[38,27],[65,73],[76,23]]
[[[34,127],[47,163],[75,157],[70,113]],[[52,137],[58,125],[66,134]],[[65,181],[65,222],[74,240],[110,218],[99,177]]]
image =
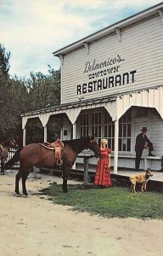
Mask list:
[[131,151],[131,112],[126,113],[120,119],[119,151]]

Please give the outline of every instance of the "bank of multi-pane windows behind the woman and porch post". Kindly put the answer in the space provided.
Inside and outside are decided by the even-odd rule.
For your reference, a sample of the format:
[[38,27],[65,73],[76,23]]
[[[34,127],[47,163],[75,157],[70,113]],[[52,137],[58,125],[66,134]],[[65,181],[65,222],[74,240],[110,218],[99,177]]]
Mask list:
[[[115,150],[115,122],[112,121],[110,114],[106,111],[92,111],[81,114],[81,137],[95,135],[98,145],[101,138],[108,140],[108,147]],[[131,111],[128,111],[121,119],[119,124],[119,151],[131,151]]]

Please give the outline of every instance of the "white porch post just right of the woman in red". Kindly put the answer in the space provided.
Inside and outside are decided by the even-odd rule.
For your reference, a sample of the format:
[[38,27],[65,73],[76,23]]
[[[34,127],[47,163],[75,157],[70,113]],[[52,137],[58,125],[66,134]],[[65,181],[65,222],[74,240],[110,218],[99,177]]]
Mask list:
[[115,153],[114,153],[114,174],[118,171],[118,138],[119,138],[119,119],[115,119]]

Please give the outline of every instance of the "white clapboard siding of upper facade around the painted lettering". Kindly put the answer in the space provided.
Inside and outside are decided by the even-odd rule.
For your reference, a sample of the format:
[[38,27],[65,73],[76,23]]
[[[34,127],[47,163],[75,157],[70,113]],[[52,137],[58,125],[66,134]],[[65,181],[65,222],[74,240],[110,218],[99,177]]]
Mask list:
[[[107,61],[110,57],[121,55],[125,61],[117,62],[109,67],[99,68],[92,72],[84,73],[85,63]],[[116,33],[111,33],[100,38],[89,45],[89,54],[83,47],[70,52],[64,57],[63,81],[62,81],[62,103],[76,102],[78,96],[91,99],[97,96],[122,93],[125,90],[137,90],[153,85],[163,84],[163,26],[160,16],[150,17],[132,26],[121,30],[121,42]],[[98,76],[104,79],[123,73],[137,70],[135,82],[110,87],[104,90],[96,90],[77,95],[77,85],[96,80],[89,79],[88,75],[98,73],[110,67],[118,67],[118,72]]]

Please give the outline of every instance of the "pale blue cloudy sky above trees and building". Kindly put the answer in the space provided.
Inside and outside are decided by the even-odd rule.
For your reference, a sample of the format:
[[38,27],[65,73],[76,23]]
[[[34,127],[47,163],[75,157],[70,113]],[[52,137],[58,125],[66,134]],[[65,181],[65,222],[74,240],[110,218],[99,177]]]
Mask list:
[[135,15],[157,0],[0,0],[0,43],[11,75],[59,69],[53,51]]

